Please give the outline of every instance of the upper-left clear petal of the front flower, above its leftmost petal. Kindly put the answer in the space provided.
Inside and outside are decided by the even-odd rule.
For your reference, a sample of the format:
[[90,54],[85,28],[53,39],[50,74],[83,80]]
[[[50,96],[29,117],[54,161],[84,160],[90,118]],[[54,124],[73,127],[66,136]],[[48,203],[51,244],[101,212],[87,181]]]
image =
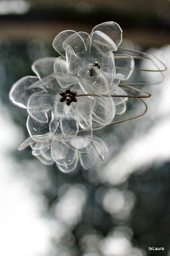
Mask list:
[[45,57],[34,61],[32,71],[41,79],[54,73],[55,57]]

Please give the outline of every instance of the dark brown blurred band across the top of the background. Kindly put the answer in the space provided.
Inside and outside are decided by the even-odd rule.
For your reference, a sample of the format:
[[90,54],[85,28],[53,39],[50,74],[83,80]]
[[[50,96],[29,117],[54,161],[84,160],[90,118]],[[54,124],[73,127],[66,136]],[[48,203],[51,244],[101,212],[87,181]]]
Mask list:
[[17,42],[31,37],[49,42],[67,29],[91,33],[96,24],[110,20],[121,26],[123,38],[144,47],[161,46],[170,40],[168,0],[1,0],[0,10],[1,33]]

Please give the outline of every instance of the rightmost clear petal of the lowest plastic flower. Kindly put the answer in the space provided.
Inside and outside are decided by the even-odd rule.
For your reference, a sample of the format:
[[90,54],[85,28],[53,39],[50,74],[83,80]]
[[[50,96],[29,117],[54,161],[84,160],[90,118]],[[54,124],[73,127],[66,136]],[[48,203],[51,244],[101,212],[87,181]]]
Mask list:
[[108,148],[102,139],[93,135],[89,153],[99,161],[104,161],[105,154],[108,154]]

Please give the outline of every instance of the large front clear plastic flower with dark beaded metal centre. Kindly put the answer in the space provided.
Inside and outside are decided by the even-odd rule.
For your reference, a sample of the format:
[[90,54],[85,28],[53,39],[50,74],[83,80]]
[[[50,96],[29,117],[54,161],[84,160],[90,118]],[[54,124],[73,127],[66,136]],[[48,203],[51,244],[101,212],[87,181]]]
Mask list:
[[[27,128],[31,138],[44,141],[55,134],[56,139],[66,141],[74,138],[80,128],[101,129],[108,125],[117,112],[117,104],[109,94],[105,75],[99,71],[93,81],[64,72],[54,73],[56,60],[51,57],[36,60],[32,70],[37,77],[21,78],[12,86],[9,93],[13,104],[27,109]],[[68,102],[61,102],[65,100],[61,98],[60,91],[65,90],[61,84],[67,83],[68,86],[69,82],[72,92],[92,96],[76,98],[75,95],[70,105]],[[72,92],[70,91],[69,95]],[[69,97],[72,96],[74,95]],[[119,102],[119,112],[120,106],[123,105]]]

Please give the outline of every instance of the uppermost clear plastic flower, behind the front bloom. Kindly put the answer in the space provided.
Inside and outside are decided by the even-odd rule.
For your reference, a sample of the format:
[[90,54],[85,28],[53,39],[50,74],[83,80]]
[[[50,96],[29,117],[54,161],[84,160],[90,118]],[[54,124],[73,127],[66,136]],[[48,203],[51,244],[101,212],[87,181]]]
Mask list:
[[[76,74],[84,66],[86,72],[83,78],[95,76],[102,70],[108,78],[111,87],[118,85],[120,80],[127,80],[134,70],[134,60],[126,54],[114,55],[122,41],[122,30],[113,22],[104,22],[92,30],[91,35],[85,32],[65,30],[59,33],[53,41],[53,47],[66,60],[64,69],[68,73]],[[66,57],[65,57],[66,56]],[[55,69],[61,71],[61,62],[56,63]],[[80,73],[79,73],[80,75]]]

